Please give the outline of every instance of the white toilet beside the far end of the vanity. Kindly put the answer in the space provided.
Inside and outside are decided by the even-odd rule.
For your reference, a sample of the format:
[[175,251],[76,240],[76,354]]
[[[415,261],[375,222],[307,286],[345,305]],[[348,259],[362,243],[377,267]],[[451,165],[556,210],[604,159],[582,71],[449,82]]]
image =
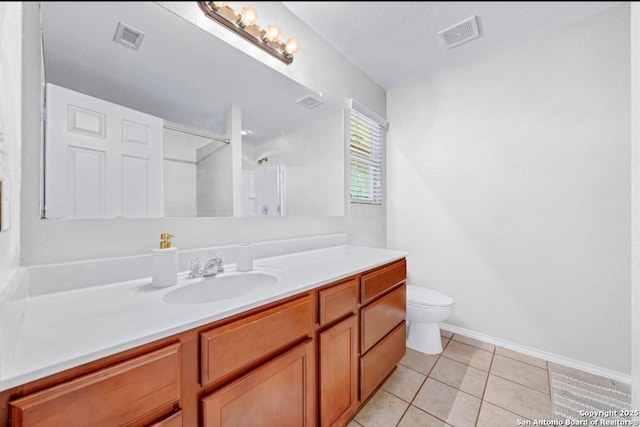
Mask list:
[[440,322],[453,311],[453,299],[433,289],[407,285],[407,347],[442,353]]

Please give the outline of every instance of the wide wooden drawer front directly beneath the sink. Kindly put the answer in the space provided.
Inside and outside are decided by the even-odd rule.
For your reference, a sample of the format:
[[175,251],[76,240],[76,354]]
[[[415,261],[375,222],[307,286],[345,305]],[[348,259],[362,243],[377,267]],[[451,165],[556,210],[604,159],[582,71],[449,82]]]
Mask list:
[[310,296],[200,334],[202,385],[239,371],[308,335],[313,328]]

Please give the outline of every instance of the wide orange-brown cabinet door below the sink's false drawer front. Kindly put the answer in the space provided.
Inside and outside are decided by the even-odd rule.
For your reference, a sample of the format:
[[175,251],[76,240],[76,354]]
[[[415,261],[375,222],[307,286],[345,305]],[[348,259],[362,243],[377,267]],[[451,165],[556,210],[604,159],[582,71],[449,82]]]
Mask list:
[[313,341],[202,398],[205,427],[314,425]]

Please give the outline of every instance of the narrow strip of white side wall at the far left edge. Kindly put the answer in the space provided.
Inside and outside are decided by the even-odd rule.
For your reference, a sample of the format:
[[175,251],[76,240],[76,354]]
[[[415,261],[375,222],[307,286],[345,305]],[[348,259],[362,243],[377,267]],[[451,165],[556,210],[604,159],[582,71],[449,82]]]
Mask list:
[[0,175],[7,178],[3,191],[9,191],[11,221],[9,230],[0,233],[0,292],[20,265],[21,16],[22,3],[0,2],[0,125],[4,137],[0,142]]

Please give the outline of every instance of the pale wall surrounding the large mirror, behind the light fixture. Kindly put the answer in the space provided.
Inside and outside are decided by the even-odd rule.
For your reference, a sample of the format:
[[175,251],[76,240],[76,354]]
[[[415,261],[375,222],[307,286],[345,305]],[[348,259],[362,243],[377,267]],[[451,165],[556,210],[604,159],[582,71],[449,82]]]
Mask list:
[[[278,2],[259,5],[261,20],[278,22],[287,33],[295,34],[302,44],[293,64],[286,66],[266,53],[207,20],[195,2],[169,2],[176,13],[228,39],[231,44],[294,80],[339,102],[355,97],[369,108],[384,114],[386,94],[353,64],[331,48],[313,30]],[[367,241],[382,245],[385,235],[380,227],[356,229],[350,224],[357,212],[347,216],[299,216],[284,218],[165,218],[157,220],[41,220],[40,180],[34,171],[40,165],[39,134],[39,34],[37,3],[25,3],[24,73],[24,192],[22,197],[22,263],[24,265],[65,262],[112,256],[148,253],[157,244],[158,235],[171,232],[178,248],[197,248],[235,242],[264,241],[331,233],[349,233],[351,241],[366,235]],[[29,172],[26,173],[26,170]],[[377,209],[377,224],[384,223],[384,208]],[[371,214],[367,214],[371,217]]]

